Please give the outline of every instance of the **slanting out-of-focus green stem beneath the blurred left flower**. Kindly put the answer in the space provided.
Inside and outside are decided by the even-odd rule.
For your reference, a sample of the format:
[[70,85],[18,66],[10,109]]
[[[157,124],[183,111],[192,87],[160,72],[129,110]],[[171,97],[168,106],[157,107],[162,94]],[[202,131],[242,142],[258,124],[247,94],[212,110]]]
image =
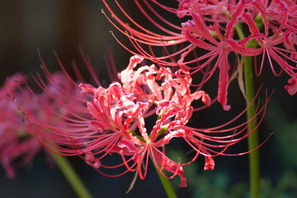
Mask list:
[[79,198],[93,198],[65,156],[49,152]]

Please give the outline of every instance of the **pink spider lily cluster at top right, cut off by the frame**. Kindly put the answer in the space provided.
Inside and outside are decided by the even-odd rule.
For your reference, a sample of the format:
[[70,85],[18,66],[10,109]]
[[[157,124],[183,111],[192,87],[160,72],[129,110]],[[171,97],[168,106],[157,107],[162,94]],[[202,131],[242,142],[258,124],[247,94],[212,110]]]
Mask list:
[[[146,8],[138,0],[135,0],[140,11],[152,24],[163,31],[164,35],[155,34],[138,24],[115,0],[124,15],[136,26],[136,28],[131,27],[117,17],[105,0],[102,1],[113,18],[125,29],[125,32],[106,16],[108,20],[118,30],[127,35],[136,51],[128,49],[117,38],[115,39],[130,52],[148,58],[158,63],[159,66],[179,66],[183,70],[189,71],[186,75],[202,72],[207,76],[200,84],[191,84],[192,86],[205,83],[212,76],[215,69],[219,67],[218,101],[225,110],[230,109],[230,106],[227,105],[227,89],[231,80],[229,78],[228,56],[232,51],[242,56],[254,56],[255,67],[257,65],[256,56],[262,54],[260,70],[259,72],[256,70],[257,76],[262,71],[264,58],[267,54],[272,72],[275,75],[280,75],[280,73],[278,74],[275,71],[272,59],[291,77],[297,78],[295,75],[297,52],[294,39],[297,33],[296,0],[272,0],[270,3],[268,0],[181,0],[178,8],[168,7],[156,0],[151,0],[154,4],[175,13],[178,17],[187,16],[192,19],[182,23],[181,26],[174,25],[160,16],[147,0],[142,3],[146,5]],[[157,16],[160,22],[153,20],[146,10]],[[165,29],[160,25],[161,23],[175,29],[176,32]],[[235,32],[236,28],[240,28],[238,24],[248,26],[249,32],[246,39],[239,40],[237,38]],[[264,34],[259,30],[261,24],[264,26]],[[237,27],[235,28],[235,26]],[[185,43],[187,46],[174,53],[168,52],[167,47],[181,43]],[[144,45],[148,45],[149,51],[145,50]],[[284,48],[280,48],[280,45],[283,45]],[[154,46],[162,47],[167,54],[156,56],[152,49]],[[196,51],[198,49],[204,49],[208,52],[198,56],[199,52]],[[190,55],[191,53],[194,53],[194,57]],[[214,61],[214,66],[210,71],[205,72],[206,66],[212,61]],[[240,62],[240,60],[237,62]],[[179,77],[184,76],[179,75]]]

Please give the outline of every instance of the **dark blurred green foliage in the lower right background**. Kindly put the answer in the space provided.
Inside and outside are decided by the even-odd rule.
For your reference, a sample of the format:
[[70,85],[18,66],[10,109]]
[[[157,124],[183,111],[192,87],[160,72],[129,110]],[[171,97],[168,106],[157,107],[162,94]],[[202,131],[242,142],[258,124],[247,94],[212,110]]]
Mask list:
[[[297,198],[297,120],[288,118],[281,109],[277,102],[269,101],[265,115],[268,127],[264,130],[274,134],[262,146],[266,147],[262,157],[265,155],[265,160],[269,159],[265,161],[265,169],[273,174],[261,176],[260,198]],[[187,161],[187,155],[181,149],[171,149],[166,153],[176,161]],[[227,160],[232,160],[232,157],[227,157]],[[191,198],[249,198],[248,181],[231,181],[229,171],[232,172],[232,167],[203,171],[202,165],[195,161],[184,167]],[[179,182],[178,177],[172,180],[174,187]],[[182,191],[179,188],[175,190]]]

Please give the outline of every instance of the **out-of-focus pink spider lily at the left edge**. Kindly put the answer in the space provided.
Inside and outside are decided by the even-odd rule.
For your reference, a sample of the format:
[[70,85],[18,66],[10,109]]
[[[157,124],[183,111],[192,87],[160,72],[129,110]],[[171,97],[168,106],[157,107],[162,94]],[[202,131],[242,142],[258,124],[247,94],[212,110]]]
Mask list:
[[[58,86],[64,86],[68,92],[71,89],[69,83],[64,83],[65,76],[61,72],[52,74],[52,80],[56,82]],[[0,89],[0,162],[2,167],[5,169],[6,174],[9,178],[15,178],[15,168],[23,167],[28,164],[37,152],[41,149],[39,141],[33,137],[27,130],[26,125],[22,121],[22,111],[15,105],[15,97],[13,93],[24,84],[27,84],[28,77],[22,74],[15,74],[8,78],[5,84]],[[52,96],[57,96],[56,88],[53,85],[46,85],[48,92]],[[43,117],[36,111],[36,107],[43,108],[44,111],[52,109],[61,111],[60,106],[53,106],[51,97],[48,93],[40,93],[38,97],[42,100],[42,104],[35,100],[35,97],[30,89],[22,89],[27,99],[23,100],[23,104],[26,105],[27,109],[32,110],[39,116],[39,119],[45,123],[51,123],[52,119],[49,117]],[[7,96],[9,97],[7,97]]]

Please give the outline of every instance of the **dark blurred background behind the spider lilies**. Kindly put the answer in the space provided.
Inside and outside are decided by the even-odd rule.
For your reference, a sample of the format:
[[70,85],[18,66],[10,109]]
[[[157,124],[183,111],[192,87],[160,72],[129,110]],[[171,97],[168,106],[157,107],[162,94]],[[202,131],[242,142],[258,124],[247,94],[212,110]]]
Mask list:
[[[134,3],[121,1],[125,10],[142,21],[144,16],[137,11]],[[111,3],[110,6],[115,6]],[[131,53],[120,47],[108,32],[111,30],[126,45],[129,40],[121,35],[104,17],[105,8],[99,0],[0,0],[0,82],[7,76],[21,71],[23,73],[42,72],[37,49],[51,72],[59,69],[52,53],[55,50],[66,69],[71,74],[71,61],[76,60],[80,70],[86,74],[79,53],[81,47],[93,62],[100,80],[106,79],[104,56],[106,47],[112,47],[118,71],[125,68]],[[166,12],[163,11],[166,17]],[[119,12],[118,12],[119,13]],[[170,16],[170,15],[169,15]],[[128,21],[127,21],[128,22]],[[146,27],[154,27],[145,23]],[[259,78],[255,79],[255,89],[262,84],[259,98],[265,99],[274,90],[269,101],[264,121],[259,127],[260,142],[270,133],[274,134],[260,148],[261,158],[261,198],[297,197],[297,96],[289,96],[284,89],[289,76],[273,76],[265,67]],[[218,72],[203,89],[212,98],[217,93]],[[227,122],[245,109],[245,102],[237,82],[231,83],[228,102],[232,108],[225,112],[216,102],[211,108],[199,111],[192,123],[201,128],[213,127]],[[243,117],[239,123],[244,122]],[[189,124],[192,124],[189,123]],[[20,123],[22,120],[20,118]],[[185,148],[179,151],[167,150],[172,158],[185,157]],[[247,142],[227,150],[228,153],[247,151]],[[107,178],[88,166],[79,157],[68,158],[90,192],[95,198],[162,198],[166,197],[152,164],[147,178],[137,179],[134,189],[126,194],[134,173],[118,178]],[[178,196],[189,198],[247,198],[248,197],[248,156],[215,157],[215,169],[203,171],[204,159],[199,158],[185,167],[188,179],[187,188],[179,188],[179,177],[172,184]],[[8,179],[0,169],[0,197],[2,198],[74,198],[75,193],[57,168],[50,168],[44,150],[26,167],[17,170],[16,179]]]

